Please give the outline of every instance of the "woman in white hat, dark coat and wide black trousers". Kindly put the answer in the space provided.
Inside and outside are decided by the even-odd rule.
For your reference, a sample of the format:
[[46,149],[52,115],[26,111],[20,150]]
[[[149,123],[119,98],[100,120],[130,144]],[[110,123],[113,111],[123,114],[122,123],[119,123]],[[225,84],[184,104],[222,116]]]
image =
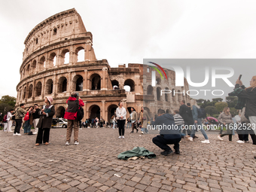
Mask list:
[[44,145],[49,145],[50,138],[50,127],[53,121],[53,115],[55,114],[55,108],[53,105],[53,98],[47,96],[44,99],[45,105],[39,112],[40,119],[38,120],[38,136],[36,137],[35,146],[38,146],[42,143]]

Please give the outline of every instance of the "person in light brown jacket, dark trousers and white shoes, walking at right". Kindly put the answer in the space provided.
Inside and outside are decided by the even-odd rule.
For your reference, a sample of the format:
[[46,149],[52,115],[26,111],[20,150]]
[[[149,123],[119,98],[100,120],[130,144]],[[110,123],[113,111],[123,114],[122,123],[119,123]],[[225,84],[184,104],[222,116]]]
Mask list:
[[227,130],[227,133],[221,134],[220,136],[218,136],[218,139],[223,140],[221,137],[229,136],[228,140],[232,142],[233,120],[232,115],[230,114],[230,108],[224,107],[222,113],[218,116],[218,122],[222,123]]

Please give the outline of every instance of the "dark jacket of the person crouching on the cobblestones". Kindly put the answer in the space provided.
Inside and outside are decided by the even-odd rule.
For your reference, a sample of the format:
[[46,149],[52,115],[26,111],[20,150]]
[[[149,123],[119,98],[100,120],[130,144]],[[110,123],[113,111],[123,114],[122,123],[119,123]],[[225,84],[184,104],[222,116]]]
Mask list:
[[181,134],[179,133],[178,126],[175,126],[174,117],[172,114],[162,114],[157,117],[154,121],[155,126],[162,126],[160,130],[160,135],[163,136],[164,139],[178,139],[181,138]]

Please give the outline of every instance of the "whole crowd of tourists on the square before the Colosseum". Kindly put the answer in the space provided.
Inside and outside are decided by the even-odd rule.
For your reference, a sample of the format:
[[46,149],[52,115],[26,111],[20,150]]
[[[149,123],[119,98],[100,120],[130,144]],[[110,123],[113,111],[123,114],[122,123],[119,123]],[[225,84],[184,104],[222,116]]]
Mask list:
[[[84,128],[99,128],[99,127],[111,127],[113,129],[118,128],[119,139],[124,139],[124,133],[126,129],[131,128],[130,133],[139,132],[140,134],[147,134],[148,128],[151,126],[157,126],[160,130],[160,135],[153,138],[152,142],[159,148],[163,149],[161,154],[168,155],[172,153],[172,149],[169,145],[174,145],[175,154],[180,154],[179,142],[182,138],[187,138],[190,142],[193,142],[197,136],[195,133],[200,130],[205,140],[202,143],[209,144],[209,137],[206,134],[205,128],[212,124],[218,123],[221,127],[220,134],[217,136],[219,140],[223,140],[224,136],[228,136],[229,141],[232,141],[234,130],[238,134],[238,143],[248,142],[248,135],[251,136],[252,144],[256,145],[255,136],[255,123],[256,123],[256,76],[251,78],[250,87],[245,88],[242,81],[236,81],[236,87],[230,96],[238,96],[238,103],[236,108],[239,110],[239,114],[233,116],[230,114],[230,108],[225,107],[219,114],[218,118],[206,117],[206,111],[200,108],[197,103],[185,103],[181,101],[180,108],[174,111],[174,114],[169,114],[163,109],[158,109],[157,114],[151,120],[148,115],[148,111],[142,107],[139,112],[135,108],[130,109],[130,114],[126,108],[123,107],[123,102],[118,103],[115,114],[111,117],[110,122],[105,121],[102,117],[87,117],[82,122],[84,117],[83,106],[84,102],[79,97],[78,93],[72,93],[67,99],[66,103],[68,108],[66,109],[64,118],[68,120],[66,129],[66,145],[71,143],[72,130],[74,130],[74,144],[79,145],[78,130]],[[38,108],[35,104],[30,106],[28,110],[25,110],[25,105],[20,106],[14,111],[13,109],[5,114],[3,119],[4,132],[12,133],[11,126],[12,121],[15,120],[15,128],[13,136],[21,136],[20,129],[23,124],[24,135],[37,134],[35,145],[49,145],[50,128],[52,126],[53,116],[55,114],[55,108],[53,105],[53,98],[47,96],[44,99],[45,105],[42,108]],[[127,118],[126,118],[127,117]],[[32,125],[35,127],[35,131],[32,132]],[[125,129],[126,125],[126,129]],[[170,129],[163,129],[164,127],[171,127]],[[242,126],[243,129],[237,129]],[[225,131],[225,133],[223,133]]]

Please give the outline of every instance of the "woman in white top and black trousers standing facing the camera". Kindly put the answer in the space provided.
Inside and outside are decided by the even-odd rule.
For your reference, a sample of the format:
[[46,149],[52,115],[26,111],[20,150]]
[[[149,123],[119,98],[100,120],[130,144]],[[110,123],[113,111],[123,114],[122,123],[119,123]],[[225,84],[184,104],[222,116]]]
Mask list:
[[126,120],[126,108],[123,107],[123,102],[118,103],[118,107],[116,109],[117,114],[117,124],[119,130],[119,139],[124,139],[124,124]]

